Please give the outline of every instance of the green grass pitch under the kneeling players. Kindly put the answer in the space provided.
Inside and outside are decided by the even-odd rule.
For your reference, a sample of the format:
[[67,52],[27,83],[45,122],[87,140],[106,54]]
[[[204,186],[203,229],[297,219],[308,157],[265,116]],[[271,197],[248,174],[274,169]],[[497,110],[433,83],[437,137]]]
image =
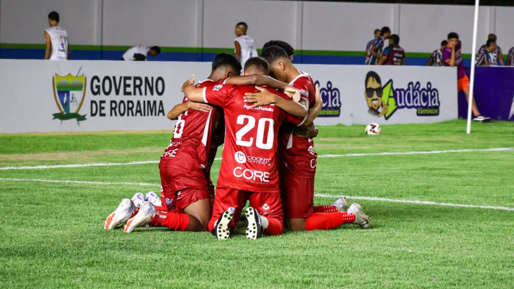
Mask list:
[[[514,147],[514,123],[474,123],[471,135],[465,125],[384,125],[379,136],[361,125],[320,127],[315,149]],[[158,160],[170,135],[4,134],[0,167]],[[514,150],[319,158],[316,194],[329,196],[315,204],[348,196],[370,215],[370,230],[345,225],[250,241],[241,229],[218,241],[207,232],[102,229],[122,197],[158,192],[159,183],[157,164],[0,170],[0,288],[514,288]]]

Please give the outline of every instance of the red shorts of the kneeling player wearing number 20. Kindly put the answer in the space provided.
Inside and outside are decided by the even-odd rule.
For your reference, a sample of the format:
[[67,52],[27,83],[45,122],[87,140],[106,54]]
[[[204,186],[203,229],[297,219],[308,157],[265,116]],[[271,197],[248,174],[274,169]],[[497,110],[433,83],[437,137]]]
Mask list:
[[284,223],[280,193],[253,193],[217,186],[209,230],[212,230],[214,222],[230,207],[235,209],[234,219],[232,219],[232,227],[235,227],[241,219],[241,211],[245,207],[246,201],[250,201],[250,206],[266,218],[274,218],[280,223]]

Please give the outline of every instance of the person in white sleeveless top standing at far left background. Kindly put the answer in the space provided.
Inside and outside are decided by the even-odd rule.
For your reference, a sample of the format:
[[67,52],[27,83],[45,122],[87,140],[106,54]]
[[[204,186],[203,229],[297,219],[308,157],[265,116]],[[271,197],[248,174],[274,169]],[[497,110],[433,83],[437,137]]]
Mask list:
[[48,14],[48,25],[45,29],[45,60],[68,60],[68,32],[59,27],[59,13],[52,11]]

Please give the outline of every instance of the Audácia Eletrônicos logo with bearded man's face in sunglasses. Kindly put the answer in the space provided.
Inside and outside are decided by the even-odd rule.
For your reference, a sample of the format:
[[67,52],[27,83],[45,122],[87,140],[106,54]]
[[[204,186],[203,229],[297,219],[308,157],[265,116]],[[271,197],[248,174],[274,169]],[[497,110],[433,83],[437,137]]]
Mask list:
[[394,88],[392,79],[382,85],[380,76],[375,71],[369,71],[364,84],[364,98],[371,115],[383,116],[388,120],[401,109],[416,109],[418,116],[439,115],[439,92],[430,81],[426,87],[421,87],[419,81],[411,81],[407,88]]

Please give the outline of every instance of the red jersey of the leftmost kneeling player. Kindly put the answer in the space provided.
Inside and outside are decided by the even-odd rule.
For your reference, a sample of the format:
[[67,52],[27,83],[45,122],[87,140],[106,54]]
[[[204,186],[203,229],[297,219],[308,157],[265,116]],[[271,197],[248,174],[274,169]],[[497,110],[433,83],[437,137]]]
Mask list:
[[[195,87],[207,87],[216,83],[223,83],[223,80],[218,82],[205,80],[196,84]],[[184,97],[182,102],[186,101],[188,99]],[[188,110],[181,114],[175,124],[170,145],[161,156],[159,168],[172,167],[208,177],[211,161],[214,161],[214,156],[210,158],[210,155],[216,154],[216,150],[211,148],[211,145],[214,145],[213,132],[219,125],[221,115],[222,112],[219,109],[209,113]]]

